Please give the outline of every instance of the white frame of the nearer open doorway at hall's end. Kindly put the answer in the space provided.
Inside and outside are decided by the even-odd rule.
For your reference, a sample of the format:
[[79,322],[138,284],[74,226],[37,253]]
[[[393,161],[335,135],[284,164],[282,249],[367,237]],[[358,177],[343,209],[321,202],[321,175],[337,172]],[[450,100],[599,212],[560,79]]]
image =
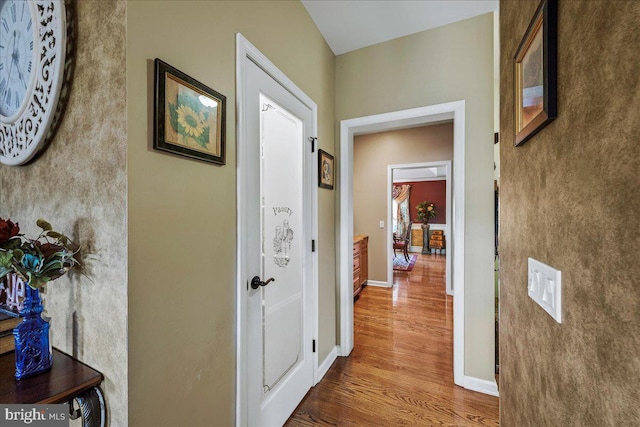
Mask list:
[[465,101],[376,114],[340,122],[340,356],[353,350],[353,137],[359,134],[453,120],[453,235],[447,255],[453,259],[453,379],[464,387],[464,194]]

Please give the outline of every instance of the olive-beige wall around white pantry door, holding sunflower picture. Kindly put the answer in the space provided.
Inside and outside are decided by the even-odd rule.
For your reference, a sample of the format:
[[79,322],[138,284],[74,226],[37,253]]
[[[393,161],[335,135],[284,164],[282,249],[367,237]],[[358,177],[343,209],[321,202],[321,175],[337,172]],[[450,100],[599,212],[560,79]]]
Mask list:
[[[127,3],[132,426],[234,423],[236,32],[318,104],[335,152],[335,57],[302,4]],[[226,166],[150,148],[155,57],[227,96]],[[319,192],[321,361],[336,343],[334,194]]]

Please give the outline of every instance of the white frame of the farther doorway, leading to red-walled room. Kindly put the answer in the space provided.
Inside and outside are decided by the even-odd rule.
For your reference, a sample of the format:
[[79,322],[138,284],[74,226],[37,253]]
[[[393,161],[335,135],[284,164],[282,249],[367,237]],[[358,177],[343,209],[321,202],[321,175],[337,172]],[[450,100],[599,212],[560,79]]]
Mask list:
[[[446,168],[445,173],[445,181],[446,181],[446,189],[445,189],[445,200],[447,203],[447,213],[445,215],[445,235],[447,236],[447,240],[450,240],[454,235],[455,230],[451,227],[451,160],[440,160],[434,162],[424,162],[424,163],[407,163],[407,164],[398,164],[398,165],[388,165],[387,166],[387,233],[386,233],[386,242],[385,245],[387,247],[387,287],[393,287],[393,247],[391,242],[393,241],[393,227],[391,224],[393,223],[393,212],[391,198],[393,194],[393,171],[396,169],[420,169],[420,168],[433,168],[438,166],[444,166]],[[447,251],[449,248],[446,249]],[[451,259],[452,257],[447,256],[445,263],[445,281],[446,281],[446,291],[447,295],[453,295],[453,280],[451,280]],[[454,322],[455,324],[455,322]]]

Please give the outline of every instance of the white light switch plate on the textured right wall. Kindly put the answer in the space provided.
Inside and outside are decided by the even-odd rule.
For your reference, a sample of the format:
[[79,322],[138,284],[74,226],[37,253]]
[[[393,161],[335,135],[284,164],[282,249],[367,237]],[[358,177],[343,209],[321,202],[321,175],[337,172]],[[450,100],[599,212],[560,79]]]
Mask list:
[[560,270],[529,258],[529,297],[556,322],[562,323],[562,274]]

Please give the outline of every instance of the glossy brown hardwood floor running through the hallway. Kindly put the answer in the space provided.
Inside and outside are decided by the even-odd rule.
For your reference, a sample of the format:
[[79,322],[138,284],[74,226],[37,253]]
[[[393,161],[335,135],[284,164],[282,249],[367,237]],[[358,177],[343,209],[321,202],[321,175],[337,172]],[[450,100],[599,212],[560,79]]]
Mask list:
[[339,357],[286,426],[498,426],[498,398],[453,384],[453,299],[445,256],[418,255],[392,289],[367,286],[355,347]]

